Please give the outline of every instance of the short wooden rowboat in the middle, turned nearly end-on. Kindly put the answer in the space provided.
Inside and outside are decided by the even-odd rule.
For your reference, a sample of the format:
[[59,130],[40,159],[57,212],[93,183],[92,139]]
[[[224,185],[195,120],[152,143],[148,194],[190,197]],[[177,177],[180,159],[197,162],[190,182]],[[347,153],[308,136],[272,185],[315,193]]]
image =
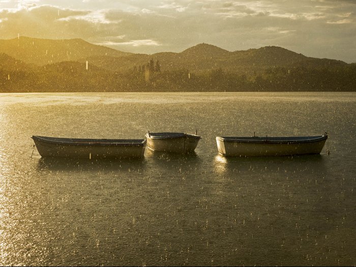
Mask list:
[[153,151],[187,154],[194,152],[201,137],[188,133],[146,133],[147,146]]

